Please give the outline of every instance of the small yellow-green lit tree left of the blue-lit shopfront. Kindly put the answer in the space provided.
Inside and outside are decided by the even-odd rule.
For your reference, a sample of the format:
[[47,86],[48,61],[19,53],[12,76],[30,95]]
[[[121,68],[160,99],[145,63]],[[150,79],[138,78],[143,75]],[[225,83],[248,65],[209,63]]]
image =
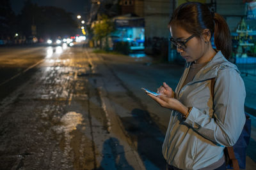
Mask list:
[[100,48],[102,48],[102,39],[106,38],[106,45],[104,48],[108,49],[108,36],[113,32],[114,24],[109,20],[106,15],[102,16],[102,20],[99,20],[93,27],[93,39],[100,41]]

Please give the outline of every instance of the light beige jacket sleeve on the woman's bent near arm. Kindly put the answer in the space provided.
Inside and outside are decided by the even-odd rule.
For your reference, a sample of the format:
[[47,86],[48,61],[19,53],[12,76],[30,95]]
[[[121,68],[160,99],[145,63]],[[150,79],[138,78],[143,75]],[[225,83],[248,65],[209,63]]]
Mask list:
[[214,117],[193,107],[184,122],[214,143],[233,146],[245,123],[245,96],[239,73],[231,68],[220,70],[214,85]]

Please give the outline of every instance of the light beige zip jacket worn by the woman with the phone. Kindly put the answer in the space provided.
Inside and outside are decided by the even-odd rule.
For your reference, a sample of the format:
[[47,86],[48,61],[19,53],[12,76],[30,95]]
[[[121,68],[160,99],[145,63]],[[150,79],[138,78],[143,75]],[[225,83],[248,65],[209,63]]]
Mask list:
[[[179,112],[171,112],[162,152],[172,166],[201,169],[221,159],[224,147],[239,138],[245,122],[246,92],[237,67],[221,52],[180,89],[190,64],[186,64],[175,92],[181,103],[193,108],[186,120]],[[216,78],[214,102],[211,78]]]

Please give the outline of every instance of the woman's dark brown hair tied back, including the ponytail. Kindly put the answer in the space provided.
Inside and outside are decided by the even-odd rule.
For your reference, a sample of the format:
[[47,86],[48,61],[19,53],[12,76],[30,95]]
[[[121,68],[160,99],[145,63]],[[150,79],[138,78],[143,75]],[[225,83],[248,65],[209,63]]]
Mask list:
[[214,44],[228,59],[232,51],[232,41],[227,22],[218,13],[213,13],[202,3],[189,2],[181,4],[172,15],[169,22],[177,24],[190,34],[201,37],[204,29],[209,29],[211,36],[214,33]]

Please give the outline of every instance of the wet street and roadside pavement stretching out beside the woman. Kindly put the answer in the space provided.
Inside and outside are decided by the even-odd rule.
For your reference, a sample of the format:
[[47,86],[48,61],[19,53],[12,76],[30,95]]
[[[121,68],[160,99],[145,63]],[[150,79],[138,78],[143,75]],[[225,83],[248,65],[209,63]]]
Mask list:
[[0,48],[0,169],[164,169],[170,112],[140,87],[175,88],[182,71],[83,46]]

